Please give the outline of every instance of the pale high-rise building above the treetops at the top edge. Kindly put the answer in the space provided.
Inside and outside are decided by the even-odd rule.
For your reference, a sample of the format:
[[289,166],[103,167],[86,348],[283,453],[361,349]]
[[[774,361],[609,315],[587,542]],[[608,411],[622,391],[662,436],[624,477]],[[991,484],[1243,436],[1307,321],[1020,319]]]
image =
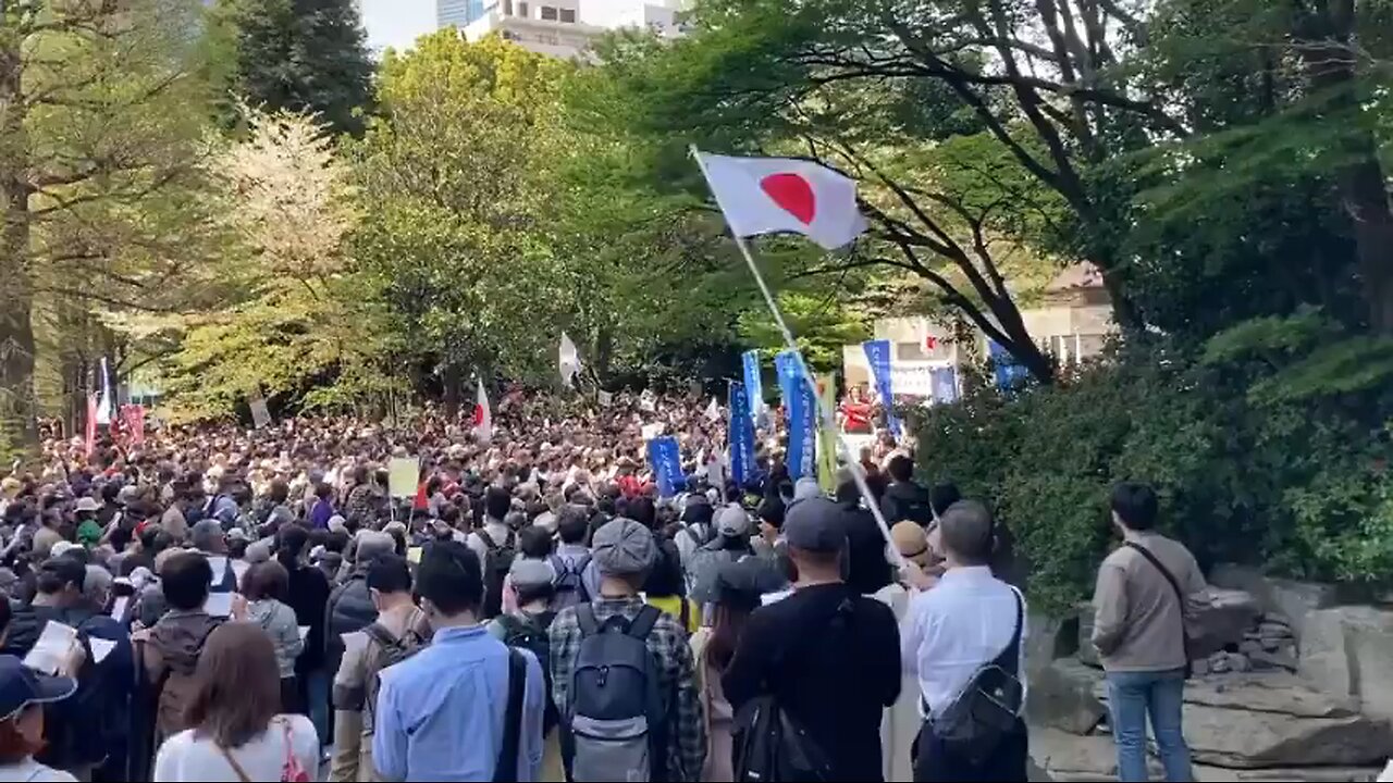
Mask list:
[[436,22],[465,39],[499,33],[517,45],[571,59],[606,31],[646,28],[681,35],[681,11],[690,0],[436,0]]

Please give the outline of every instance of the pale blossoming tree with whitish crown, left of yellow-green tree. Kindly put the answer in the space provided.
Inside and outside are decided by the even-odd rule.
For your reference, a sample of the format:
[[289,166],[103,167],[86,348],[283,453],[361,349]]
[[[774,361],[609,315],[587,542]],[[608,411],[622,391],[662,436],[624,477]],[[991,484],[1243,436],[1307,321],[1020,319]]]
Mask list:
[[124,332],[178,346],[162,368],[188,417],[228,415],[258,394],[341,407],[384,392],[380,320],[347,273],[345,237],[359,216],[329,128],[242,110],[248,137],[209,163],[233,237],[206,269],[216,304],[130,318]]

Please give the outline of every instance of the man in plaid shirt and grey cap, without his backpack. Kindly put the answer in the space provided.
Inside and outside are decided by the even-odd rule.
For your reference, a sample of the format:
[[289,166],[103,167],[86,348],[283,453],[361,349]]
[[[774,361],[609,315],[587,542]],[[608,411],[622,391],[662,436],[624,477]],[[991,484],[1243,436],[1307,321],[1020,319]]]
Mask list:
[[[600,575],[599,595],[592,603],[563,609],[552,621],[552,695],[561,716],[561,729],[570,733],[567,720],[573,718],[571,685],[573,674],[581,655],[582,642],[588,634],[582,627],[593,623],[605,628],[621,623],[625,628],[642,617],[652,628],[644,637],[648,652],[656,662],[657,692],[663,695],[659,716],[662,747],[652,748],[655,770],[645,780],[696,780],[706,757],[706,729],[702,723],[701,701],[696,690],[696,674],[692,666],[691,648],[687,645],[687,631],[681,623],[666,613],[646,606],[638,595],[657,557],[657,542],[646,527],[634,520],[616,518],[598,531],[591,542],[592,563]],[[582,612],[588,617],[582,619]],[[623,620],[614,620],[623,617]],[[574,741],[563,734],[566,763],[570,779],[575,776]],[[662,766],[660,766],[662,765]],[[623,779],[623,776],[607,777]]]

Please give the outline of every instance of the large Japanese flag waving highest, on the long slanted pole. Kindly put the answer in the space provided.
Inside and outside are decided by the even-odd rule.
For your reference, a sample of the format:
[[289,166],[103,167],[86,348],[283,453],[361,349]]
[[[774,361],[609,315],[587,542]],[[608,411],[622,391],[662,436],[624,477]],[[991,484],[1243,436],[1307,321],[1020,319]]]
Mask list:
[[866,230],[857,183],[809,160],[696,153],[710,192],[737,237],[804,234],[826,249]]

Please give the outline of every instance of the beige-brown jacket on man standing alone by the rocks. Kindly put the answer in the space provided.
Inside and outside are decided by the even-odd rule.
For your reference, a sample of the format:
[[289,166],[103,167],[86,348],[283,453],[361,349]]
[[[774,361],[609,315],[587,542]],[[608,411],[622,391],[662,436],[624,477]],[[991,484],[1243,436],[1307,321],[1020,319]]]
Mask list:
[[1208,589],[1194,555],[1156,532],[1128,534],[1146,548],[1178,582],[1176,591],[1149,560],[1131,546],[1119,546],[1098,568],[1094,591],[1094,646],[1109,672],[1167,672],[1185,665],[1184,623],[1194,617],[1192,596]]

